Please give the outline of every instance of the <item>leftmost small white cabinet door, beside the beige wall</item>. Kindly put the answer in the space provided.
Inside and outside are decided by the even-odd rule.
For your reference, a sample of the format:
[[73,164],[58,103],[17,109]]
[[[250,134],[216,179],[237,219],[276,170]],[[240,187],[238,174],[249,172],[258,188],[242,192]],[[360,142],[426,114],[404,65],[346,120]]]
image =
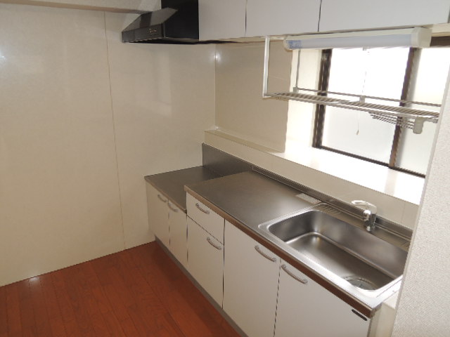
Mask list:
[[167,198],[147,184],[148,225],[158,239],[169,247],[169,212]]

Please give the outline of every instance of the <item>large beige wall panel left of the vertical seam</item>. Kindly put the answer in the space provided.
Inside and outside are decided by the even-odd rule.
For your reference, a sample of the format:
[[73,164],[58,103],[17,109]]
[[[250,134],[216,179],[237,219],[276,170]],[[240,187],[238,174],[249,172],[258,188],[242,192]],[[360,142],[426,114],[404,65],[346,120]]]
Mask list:
[[123,239],[103,13],[0,4],[0,22],[1,285]]

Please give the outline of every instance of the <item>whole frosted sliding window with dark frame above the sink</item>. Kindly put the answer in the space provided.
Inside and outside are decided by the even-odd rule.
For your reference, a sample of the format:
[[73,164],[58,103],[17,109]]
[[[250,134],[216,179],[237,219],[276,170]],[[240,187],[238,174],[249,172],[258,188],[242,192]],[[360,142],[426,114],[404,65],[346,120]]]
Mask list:
[[[448,47],[333,49],[322,52],[319,89],[440,104],[449,65]],[[425,176],[435,129],[426,122],[413,134],[367,112],[317,105],[313,146]]]

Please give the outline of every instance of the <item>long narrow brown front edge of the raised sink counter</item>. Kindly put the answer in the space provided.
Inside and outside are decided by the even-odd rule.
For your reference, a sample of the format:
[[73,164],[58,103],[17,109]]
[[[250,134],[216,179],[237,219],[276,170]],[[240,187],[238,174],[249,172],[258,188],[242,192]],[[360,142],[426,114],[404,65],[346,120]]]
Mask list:
[[219,214],[219,216],[221,216],[222,218],[227,220],[229,223],[238,227],[239,230],[243,231],[245,234],[248,234],[249,237],[251,237],[252,239],[255,239],[255,241],[259,242],[259,244],[262,244],[264,247],[266,247],[266,249],[269,249],[273,253],[276,253],[276,255],[278,255],[280,258],[285,260],[287,263],[289,263],[290,265],[293,265],[293,267],[300,270],[300,272],[303,272],[304,275],[307,275],[307,277],[310,277],[311,279],[313,279],[314,282],[320,284],[321,286],[323,286],[323,288],[330,291],[330,293],[333,293],[335,296],[337,296],[338,298],[343,300],[345,303],[347,303],[348,305],[351,305],[353,308],[355,308],[356,310],[361,312],[361,314],[365,315],[368,318],[372,318],[373,315],[375,314],[375,310],[378,307],[370,308],[367,305],[364,305],[364,303],[361,303],[358,300],[347,295],[346,293],[343,293],[343,291],[341,291],[340,289],[337,289],[336,286],[334,286],[333,284],[330,284],[326,279],[323,279],[322,277],[320,277],[320,275],[317,275],[315,272],[309,270],[302,263],[295,260],[295,258],[288,256],[285,253],[285,251],[278,248],[278,246],[267,241],[266,239],[264,239],[264,237],[261,237],[259,234],[257,234],[253,230],[251,230],[248,226],[244,225],[243,223],[240,223],[238,220],[236,220],[235,218],[230,216],[229,213],[222,211],[218,206],[212,204],[210,201],[208,201],[207,199],[202,197],[200,194],[191,190],[188,186],[184,186],[184,190],[186,192],[188,192],[189,194],[191,194],[195,199],[198,199],[198,201],[205,204],[205,206],[212,209],[212,211]]

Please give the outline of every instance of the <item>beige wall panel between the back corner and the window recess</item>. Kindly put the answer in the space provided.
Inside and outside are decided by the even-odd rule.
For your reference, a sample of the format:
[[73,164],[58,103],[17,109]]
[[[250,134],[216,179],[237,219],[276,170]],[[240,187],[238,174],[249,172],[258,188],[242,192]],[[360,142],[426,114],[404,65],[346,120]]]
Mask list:
[[[269,91],[287,91],[292,52],[271,43]],[[288,102],[262,98],[264,44],[217,46],[216,124],[235,136],[284,150]]]

